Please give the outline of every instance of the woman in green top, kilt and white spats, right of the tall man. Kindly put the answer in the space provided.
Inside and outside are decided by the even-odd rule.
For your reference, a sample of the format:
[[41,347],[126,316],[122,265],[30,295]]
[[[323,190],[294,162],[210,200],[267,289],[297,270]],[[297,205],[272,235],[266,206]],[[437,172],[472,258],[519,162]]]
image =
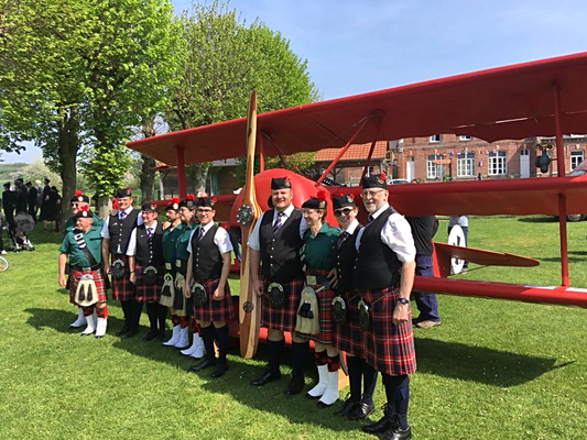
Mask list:
[[[331,307],[335,292],[328,278],[335,266],[333,246],[338,240],[340,229],[333,228],[324,221],[326,206],[327,201],[323,193],[318,193],[317,197],[312,197],[302,205],[308,230],[304,233],[301,257],[305,266],[305,284],[316,293],[319,331],[315,334],[297,333],[297,336],[314,341],[318,383],[307,392],[306,396],[319,398],[318,408],[328,407],[338,399],[338,369],[340,366],[339,351],[334,346]],[[302,315],[301,312],[302,308],[298,315]],[[297,319],[301,318],[297,317]]]

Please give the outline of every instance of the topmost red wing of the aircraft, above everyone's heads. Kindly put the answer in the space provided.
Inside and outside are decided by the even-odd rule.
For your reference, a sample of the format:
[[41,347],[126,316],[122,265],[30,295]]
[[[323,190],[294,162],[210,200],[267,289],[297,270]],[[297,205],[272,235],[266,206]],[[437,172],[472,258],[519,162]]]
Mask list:
[[[434,79],[346,98],[265,112],[258,117],[263,153],[276,156],[345,145],[371,114],[354,143],[435,133],[467,134],[492,142],[555,135],[555,89],[563,133],[587,127],[587,53]],[[373,120],[377,118],[373,118]],[[378,131],[379,130],[379,131]],[[175,147],[185,163],[244,155],[246,119],[219,122],[129,142],[171,165]],[[276,145],[276,146],[275,146]]]

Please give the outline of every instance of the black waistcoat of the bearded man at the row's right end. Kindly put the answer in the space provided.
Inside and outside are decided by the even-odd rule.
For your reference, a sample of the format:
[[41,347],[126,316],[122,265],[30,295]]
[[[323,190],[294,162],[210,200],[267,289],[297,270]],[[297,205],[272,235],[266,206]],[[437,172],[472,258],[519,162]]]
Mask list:
[[395,252],[381,241],[381,230],[392,212],[393,209],[387,209],[363,229],[352,274],[356,290],[395,286],[400,279],[402,264]]

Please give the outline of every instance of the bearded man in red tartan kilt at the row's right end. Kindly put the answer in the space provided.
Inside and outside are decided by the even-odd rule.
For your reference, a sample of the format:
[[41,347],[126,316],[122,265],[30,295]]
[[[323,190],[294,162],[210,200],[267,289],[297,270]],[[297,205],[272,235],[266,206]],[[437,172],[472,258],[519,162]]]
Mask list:
[[362,430],[385,432],[384,440],[412,438],[407,424],[409,374],[416,370],[410,294],[415,246],[407,221],[388,204],[383,174],[363,176],[362,201],[369,222],[357,237],[352,283],[360,296],[365,361],[381,373],[387,405],[383,417]]

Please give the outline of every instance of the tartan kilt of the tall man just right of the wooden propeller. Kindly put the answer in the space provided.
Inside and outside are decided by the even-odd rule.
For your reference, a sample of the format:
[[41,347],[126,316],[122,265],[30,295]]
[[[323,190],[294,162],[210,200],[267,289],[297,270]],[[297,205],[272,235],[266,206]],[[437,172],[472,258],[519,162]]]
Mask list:
[[283,285],[286,302],[282,308],[271,307],[271,304],[269,302],[269,294],[267,292],[270,284],[271,282],[264,282],[264,292],[261,297],[261,307],[263,310],[261,326],[273,330],[293,331],[295,328],[295,317],[297,315],[297,307],[300,306],[300,298],[304,288],[304,278],[300,277]]

